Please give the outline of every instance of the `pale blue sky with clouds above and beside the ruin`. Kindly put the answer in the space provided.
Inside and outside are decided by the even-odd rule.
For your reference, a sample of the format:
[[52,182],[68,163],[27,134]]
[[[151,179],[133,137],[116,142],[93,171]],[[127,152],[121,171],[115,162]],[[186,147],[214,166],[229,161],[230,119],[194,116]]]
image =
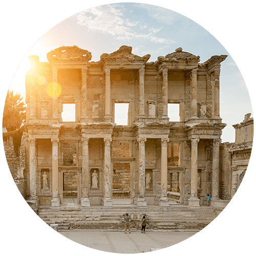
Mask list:
[[155,5],[117,3],[97,6],[72,15],[35,43],[16,70],[9,90],[25,98],[27,57],[39,56],[48,61],[47,53],[60,46],[73,46],[92,53],[91,61],[98,61],[102,53],[112,53],[122,45],[132,46],[133,54],[151,54],[148,61],[156,61],[182,47],[183,51],[200,56],[204,62],[212,55],[228,55],[221,63],[220,115],[227,126],[222,142],[234,142],[233,124],[252,114],[250,96],[243,76],[228,51],[210,32],[186,16]]

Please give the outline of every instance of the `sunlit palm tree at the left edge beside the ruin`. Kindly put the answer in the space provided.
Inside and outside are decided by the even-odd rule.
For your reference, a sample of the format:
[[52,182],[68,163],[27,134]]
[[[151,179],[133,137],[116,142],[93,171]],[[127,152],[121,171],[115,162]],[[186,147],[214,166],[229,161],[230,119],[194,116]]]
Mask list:
[[26,117],[26,105],[23,102],[23,97],[13,91],[8,91],[5,100],[4,115],[2,126],[7,132],[12,132],[19,129]]

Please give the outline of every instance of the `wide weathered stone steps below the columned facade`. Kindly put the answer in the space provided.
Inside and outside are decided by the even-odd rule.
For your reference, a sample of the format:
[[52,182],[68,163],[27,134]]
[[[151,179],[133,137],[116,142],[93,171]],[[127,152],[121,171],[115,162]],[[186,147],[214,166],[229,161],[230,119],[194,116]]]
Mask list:
[[141,218],[147,216],[146,229],[151,230],[201,230],[212,222],[217,214],[207,206],[191,208],[185,205],[160,207],[149,205],[113,205],[82,207],[61,205],[60,207],[39,206],[37,215],[42,221],[58,224],[59,231],[74,229],[122,230],[122,217],[128,213],[132,229],[141,228]]

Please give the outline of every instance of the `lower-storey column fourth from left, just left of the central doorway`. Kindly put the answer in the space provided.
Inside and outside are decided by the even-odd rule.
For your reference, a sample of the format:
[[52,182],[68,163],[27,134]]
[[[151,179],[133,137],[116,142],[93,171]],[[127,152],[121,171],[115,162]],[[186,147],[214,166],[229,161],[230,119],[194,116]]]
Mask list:
[[112,206],[112,184],[111,184],[111,141],[112,138],[104,138],[104,206]]

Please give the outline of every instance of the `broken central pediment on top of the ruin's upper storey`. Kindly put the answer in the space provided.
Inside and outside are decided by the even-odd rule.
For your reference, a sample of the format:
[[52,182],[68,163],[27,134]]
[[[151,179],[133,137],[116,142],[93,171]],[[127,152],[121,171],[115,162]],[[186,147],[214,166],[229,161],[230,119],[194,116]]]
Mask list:
[[121,46],[117,51],[113,53],[103,53],[100,56],[100,62],[108,62],[108,61],[120,61],[120,62],[127,62],[127,63],[134,63],[134,62],[143,62],[146,63],[148,59],[150,59],[151,55],[146,54],[143,57],[135,55],[132,53],[133,48],[131,46]]

